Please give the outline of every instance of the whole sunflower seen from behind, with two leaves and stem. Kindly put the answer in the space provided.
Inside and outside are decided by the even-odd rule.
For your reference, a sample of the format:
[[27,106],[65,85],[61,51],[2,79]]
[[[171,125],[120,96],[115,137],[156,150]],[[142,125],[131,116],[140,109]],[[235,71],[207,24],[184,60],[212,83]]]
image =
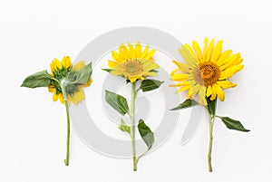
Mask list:
[[71,102],[78,104],[85,99],[83,88],[91,85],[92,62],[85,65],[82,61],[73,65],[69,56],[63,56],[62,61],[54,58],[50,68],[51,73],[44,70],[26,77],[21,86],[32,89],[47,87],[48,91],[53,92],[53,101],[60,100],[64,104],[67,118],[66,158],[64,164],[68,166],[70,156],[69,105]]

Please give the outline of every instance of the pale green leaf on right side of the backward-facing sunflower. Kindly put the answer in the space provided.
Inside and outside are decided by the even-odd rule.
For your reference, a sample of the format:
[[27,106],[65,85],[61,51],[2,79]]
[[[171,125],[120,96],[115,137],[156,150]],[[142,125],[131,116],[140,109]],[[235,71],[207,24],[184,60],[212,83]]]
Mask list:
[[85,65],[81,70],[78,72],[75,72],[75,76],[73,83],[78,84],[85,84],[87,81],[89,81],[90,77],[92,75],[92,62]]

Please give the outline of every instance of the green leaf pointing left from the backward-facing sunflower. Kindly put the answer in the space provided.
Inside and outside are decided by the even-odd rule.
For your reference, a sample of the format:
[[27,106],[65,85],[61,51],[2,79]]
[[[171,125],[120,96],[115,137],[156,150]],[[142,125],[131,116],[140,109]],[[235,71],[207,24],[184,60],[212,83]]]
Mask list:
[[47,87],[50,84],[51,76],[46,70],[42,72],[36,72],[24,79],[21,87],[36,88]]

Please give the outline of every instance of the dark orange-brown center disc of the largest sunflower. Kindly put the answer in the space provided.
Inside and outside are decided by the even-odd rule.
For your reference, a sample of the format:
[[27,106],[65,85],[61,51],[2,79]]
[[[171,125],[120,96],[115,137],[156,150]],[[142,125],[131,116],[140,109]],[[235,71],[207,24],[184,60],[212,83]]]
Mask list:
[[201,62],[193,71],[194,79],[200,85],[209,86],[216,83],[220,77],[219,66],[213,62]]

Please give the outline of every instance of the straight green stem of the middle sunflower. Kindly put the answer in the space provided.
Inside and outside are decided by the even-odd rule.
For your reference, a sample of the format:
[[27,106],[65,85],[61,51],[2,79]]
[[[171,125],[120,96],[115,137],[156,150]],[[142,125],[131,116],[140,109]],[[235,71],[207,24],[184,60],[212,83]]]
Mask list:
[[135,148],[135,82],[131,83],[131,145],[132,145],[132,161],[133,161],[133,170],[137,171],[137,159],[136,159],[136,148]]

